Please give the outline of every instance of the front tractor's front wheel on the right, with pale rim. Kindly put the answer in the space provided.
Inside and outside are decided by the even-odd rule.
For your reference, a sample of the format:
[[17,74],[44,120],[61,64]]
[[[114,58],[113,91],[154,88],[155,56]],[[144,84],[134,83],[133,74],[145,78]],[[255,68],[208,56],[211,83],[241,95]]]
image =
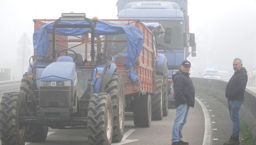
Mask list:
[[109,94],[91,96],[87,116],[88,142],[110,145],[113,136],[113,106]]

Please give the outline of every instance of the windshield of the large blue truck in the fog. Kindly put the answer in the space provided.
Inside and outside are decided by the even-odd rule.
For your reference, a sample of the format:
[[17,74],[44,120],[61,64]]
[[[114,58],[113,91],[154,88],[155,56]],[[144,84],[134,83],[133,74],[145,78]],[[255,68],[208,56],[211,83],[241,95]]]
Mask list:
[[182,20],[143,20],[145,22],[159,22],[164,28],[172,28],[172,41],[170,44],[164,43],[164,34],[157,37],[158,49],[184,49],[183,33],[184,22]]

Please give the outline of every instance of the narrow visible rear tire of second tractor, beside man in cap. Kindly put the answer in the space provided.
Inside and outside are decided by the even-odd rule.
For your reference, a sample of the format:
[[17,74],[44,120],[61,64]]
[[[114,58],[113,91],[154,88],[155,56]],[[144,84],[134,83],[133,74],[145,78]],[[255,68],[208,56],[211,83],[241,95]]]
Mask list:
[[166,74],[164,74],[164,80],[163,80],[163,116],[167,116],[169,113],[168,108],[168,73],[166,69]]

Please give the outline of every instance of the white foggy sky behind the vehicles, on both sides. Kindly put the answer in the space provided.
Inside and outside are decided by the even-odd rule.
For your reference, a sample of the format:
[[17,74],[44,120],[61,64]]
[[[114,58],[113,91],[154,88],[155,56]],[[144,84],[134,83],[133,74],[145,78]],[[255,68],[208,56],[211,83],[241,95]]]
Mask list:
[[[28,56],[33,55],[33,19],[57,19],[63,12],[117,19],[116,1],[1,1],[0,68],[11,68],[11,79],[21,79],[22,68],[27,69]],[[192,76],[204,72],[205,67],[229,71],[231,75],[234,58],[241,58],[249,70],[256,68],[255,0],[188,0],[188,3],[190,32],[195,33],[197,43],[197,57],[188,58]],[[17,54],[23,35],[30,42],[26,43],[24,67],[20,53]]]

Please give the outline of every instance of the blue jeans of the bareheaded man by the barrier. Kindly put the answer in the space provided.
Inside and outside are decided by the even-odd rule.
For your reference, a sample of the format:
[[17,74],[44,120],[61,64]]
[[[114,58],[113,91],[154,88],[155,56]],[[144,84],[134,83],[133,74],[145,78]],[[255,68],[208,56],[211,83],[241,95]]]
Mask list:
[[241,109],[242,101],[228,101],[228,110],[230,118],[233,123],[232,135],[231,137],[238,137],[240,131],[240,119],[239,112]]

